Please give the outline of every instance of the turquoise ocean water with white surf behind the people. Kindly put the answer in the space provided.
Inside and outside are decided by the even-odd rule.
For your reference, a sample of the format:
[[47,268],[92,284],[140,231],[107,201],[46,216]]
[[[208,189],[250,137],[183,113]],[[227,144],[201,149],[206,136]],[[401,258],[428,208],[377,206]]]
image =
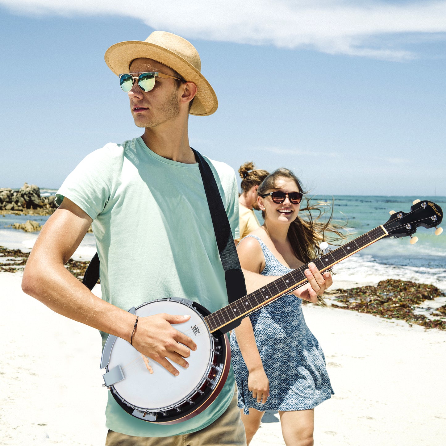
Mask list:
[[[41,190],[41,194],[54,194],[53,190]],[[446,210],[446,197],[383,197],[383,196],[354,196],[354,195],[316,195],[312,202],[330,204],[334,199],[333,218],[339,223],[347,223],[351,238],[370,231],[374,227],[384,224],[389,219],[389,211],[409,212],[415,199],[429,200]],[[48,217],[29,215],[0,216],[0,245],[10,248],[26,249],[32,245],[36,235],[27,234],[7,228],[12,223],[24,223],[32,219],[40,224]],[[261,216],[259,215],[261,220]],[[434,228],[417,229],[418,242],[409,244],[409,237],[403,239],[379,240],[375,244],[364,248],[349,259],[335,267],[343,278],[368,278],[369,281],[384,278],[401,278],[404,280],[432,283],[446,291],[446,220],[440,224],[445,231],[434,235]],[[87,234],[83,241],[84,254],[82,260],[87,260],[95,252],[94,238]]]

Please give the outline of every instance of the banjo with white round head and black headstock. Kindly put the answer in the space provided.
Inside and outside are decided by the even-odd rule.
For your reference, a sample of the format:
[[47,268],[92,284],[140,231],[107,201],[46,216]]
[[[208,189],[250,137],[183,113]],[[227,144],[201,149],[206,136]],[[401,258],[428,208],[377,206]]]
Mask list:
[[[386,223],[340,248],[333,251],[326,248],[313,263],[323,273],[386,237],[409,235],[410,243],[414,244],[418,238],[412,234],[418,226],[436,227],[435,235],[442,233],[442,228],[437,228],[442,222],[442,209],[429,200],[415,200],[408,213],[391,211],[390,214]],[[308,283],[304,274],[306,268],[308,264],[212,314],[197,302],[175,297],[133,307],[129,312],[139,317],[158,313],[190,315],[189,321],[175,324],[175,328],[194,339],[197,350],[190,352],[189,367],[173,376],[129,342],[109,335],[101,358],[101,368],[105,368],[103,386],[111,391],[122,409],[144,421],[176,424],[198,415],[215,401],[227,379],[231,363],[227,332],[233,328],[234,321]]]

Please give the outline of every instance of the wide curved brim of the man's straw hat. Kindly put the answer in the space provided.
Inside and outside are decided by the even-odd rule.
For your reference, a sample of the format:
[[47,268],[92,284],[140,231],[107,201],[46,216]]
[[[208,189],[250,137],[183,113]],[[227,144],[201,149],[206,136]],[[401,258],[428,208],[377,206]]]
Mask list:
[[127,73],[130,63],[137,58],[156,60],[197,86],[197,94],[189,111],[191,115],[208,116],[217,110],[217,95],[211,84],[192,64],[173,51],[153,43],[130,40],[112,45],[105,53],[105,63],[116,75]]

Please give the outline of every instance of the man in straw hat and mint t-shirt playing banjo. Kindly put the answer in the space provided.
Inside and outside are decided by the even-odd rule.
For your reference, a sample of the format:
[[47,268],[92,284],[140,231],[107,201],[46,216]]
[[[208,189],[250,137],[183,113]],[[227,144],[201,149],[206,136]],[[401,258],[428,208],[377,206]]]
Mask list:
[[[201,74],[197,50],[182,37],[153,32],[112,45],[105,61],[120,75],[139,138],[88,155],[58,190],[22,287],[51,309],[130,342],[174,375],[188,366],[194,341],[172,330],[189,316],[140,318],[127,310],[160,297],[185,297],[210,311],[227,305],[224,272],[202,179],[188,139],[188,116],[215,112],[217,97]],[[237,184],[228,165],[206,158],[238,236]],[[92,224],[102,299],[64,268]],[[63,235],[63,236],[62,236]],[[192,261],[194,260],[194,261]],[[147,291],[150,290],[150,295]],[[133,330],[133,331],[132,331]],[[190,359],[192,360],[192,359]],[[232,371],[215,401],[178,424],[148,423],[108,392],[106,444],[244,445]]]

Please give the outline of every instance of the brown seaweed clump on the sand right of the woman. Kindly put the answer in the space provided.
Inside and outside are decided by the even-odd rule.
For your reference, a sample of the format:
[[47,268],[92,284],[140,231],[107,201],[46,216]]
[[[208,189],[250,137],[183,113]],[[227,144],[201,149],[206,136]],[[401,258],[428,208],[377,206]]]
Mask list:
[[[339,295],[333,299],[343,305],[332,304],[336,308],[374,314],[386,319],[400,319],[410,326],[417,324],[426,328],[446,330],[446,322],[435,318],[435,314],[433,319],[422,314],[414,314],[414,310],[421,302],[444,296],[434,285],[388,279],[380,281],[377,286],[339,289],[337,293]],[[446,314],[445,307],[442,306],[435,311]]]

